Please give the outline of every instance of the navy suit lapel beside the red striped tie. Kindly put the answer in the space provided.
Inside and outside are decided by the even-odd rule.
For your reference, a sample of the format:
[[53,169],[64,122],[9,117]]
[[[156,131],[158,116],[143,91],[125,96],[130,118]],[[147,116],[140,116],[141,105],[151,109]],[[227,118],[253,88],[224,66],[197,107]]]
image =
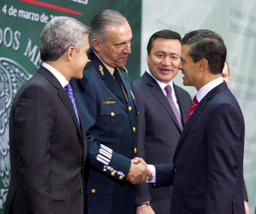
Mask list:
[[197,120],[198,116],[201,114],[201,112],[206,107],[208,100],[212,99],[217,93],[219,93],[219,92],[221,92],[223,90],[226,90],[226,89],[228,89],[227,88],[227,84],[225,82],[223,82],[223,83],[217,85],[211,91],[209,91],[207,93],[207,95],[205,95],[204,98],[198,103],[198,105],[195,108],[193,114],[191,115],[189,121],[185,124],[185,126],[183,128],[183,131],[182,131],[182,133],[180,135],[179,142],[178,142],[178,144],[176,146],[176,150],[175,150],[174,156],[175,156],[177,150],[179,149],[180,144],[182,143],[182,141],[186,137],[186,135],[189,132],[189,130],[191,129],[191,127],[193,126],[194,122]]

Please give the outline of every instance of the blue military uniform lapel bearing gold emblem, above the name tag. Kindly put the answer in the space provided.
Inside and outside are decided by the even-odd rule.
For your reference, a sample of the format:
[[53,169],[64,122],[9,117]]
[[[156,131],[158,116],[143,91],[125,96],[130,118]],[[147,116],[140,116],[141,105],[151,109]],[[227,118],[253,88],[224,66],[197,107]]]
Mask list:
[[[92,50],[91,50],[92,51]],[[94,66],[101,77],[101,79],[105,80],[106,86],[119,98],[123,99],[126,102],[124,93],[120,89],[119,85],[117,84],[114,77],[111,75],[109,70],[105,67],[105,65],[100,61],[100,59],[95,55],[95,53],[92,51],[90,52],[90,58],[94,62]]]

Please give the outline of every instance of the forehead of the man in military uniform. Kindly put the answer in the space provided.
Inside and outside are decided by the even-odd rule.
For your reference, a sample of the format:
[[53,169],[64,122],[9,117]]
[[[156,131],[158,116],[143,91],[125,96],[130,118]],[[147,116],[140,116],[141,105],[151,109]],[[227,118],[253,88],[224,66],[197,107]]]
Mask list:
[[132,29],[128,22],[122,26],[109,26],[108,32],[110,41],[124,42],[132,38]]

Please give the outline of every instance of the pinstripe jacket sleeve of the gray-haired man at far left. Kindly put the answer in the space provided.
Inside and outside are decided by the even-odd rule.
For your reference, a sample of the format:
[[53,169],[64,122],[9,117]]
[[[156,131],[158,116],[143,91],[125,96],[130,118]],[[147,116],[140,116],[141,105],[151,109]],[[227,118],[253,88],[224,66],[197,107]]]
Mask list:
[[53,214],[50,144],[54,108],[49,92],[29,85],[14,106],[18,170],[28,213]]

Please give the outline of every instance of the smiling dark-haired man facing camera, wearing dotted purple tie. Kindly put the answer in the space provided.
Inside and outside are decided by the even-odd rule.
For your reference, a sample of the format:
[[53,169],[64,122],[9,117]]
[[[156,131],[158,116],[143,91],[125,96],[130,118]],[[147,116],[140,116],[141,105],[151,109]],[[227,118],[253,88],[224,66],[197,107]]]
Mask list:
[[[179,72],[180,54],[178,33],[170,30],[154,33],[147,45],[149,68],[133,81],[139,111],[138,157],[147,164],[172,163],[187,120],[191,97],[172,81]],[[171,186],[153,189],[149,184],[139,184],[134,189],[137,214],[169,214]]]

